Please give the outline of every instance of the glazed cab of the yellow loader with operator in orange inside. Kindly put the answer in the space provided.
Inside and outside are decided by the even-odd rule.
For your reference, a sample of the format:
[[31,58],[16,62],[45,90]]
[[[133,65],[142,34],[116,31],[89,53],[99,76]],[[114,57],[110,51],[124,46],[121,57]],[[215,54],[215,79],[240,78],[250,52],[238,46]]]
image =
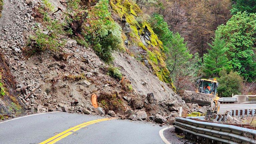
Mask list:
[[199,79],[197,80],[198,92],[216,95],[219,83],[216,80]]

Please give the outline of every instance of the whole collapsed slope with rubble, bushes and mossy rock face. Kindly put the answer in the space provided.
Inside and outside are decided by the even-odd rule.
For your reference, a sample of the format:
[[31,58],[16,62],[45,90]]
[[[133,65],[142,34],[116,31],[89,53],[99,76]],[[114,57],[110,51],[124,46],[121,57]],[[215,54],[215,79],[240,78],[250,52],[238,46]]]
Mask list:
[[0,47],[15,77],[7,72],[6,91],[27,112],[173,123],[180,106],[197,109],[173,91],[162,42],[132,0],[9,0],[5,7]]

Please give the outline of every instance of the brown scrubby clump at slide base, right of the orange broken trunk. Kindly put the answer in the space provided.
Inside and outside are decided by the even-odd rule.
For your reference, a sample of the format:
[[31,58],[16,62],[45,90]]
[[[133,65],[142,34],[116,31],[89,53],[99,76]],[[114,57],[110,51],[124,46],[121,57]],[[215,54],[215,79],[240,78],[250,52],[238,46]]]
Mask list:
[[100,107],[103,107],[106,110],[113,111],[123,111],[123,101],[118,97],[118,93],[107,93],[101,92],[98,99],[98,103]]

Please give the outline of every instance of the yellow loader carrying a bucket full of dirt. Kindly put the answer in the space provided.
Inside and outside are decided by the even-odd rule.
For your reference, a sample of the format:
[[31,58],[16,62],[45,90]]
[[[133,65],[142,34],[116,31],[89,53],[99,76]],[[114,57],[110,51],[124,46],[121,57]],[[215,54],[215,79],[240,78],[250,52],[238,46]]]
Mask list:
[[220,102],[217,93],[219,83],[216,79],[199,79],[197,80],[197,89],[195,91],[185,90],[182,100],[186,103],[197,103],[199,106],[211,106],[214,113],[220,110]]

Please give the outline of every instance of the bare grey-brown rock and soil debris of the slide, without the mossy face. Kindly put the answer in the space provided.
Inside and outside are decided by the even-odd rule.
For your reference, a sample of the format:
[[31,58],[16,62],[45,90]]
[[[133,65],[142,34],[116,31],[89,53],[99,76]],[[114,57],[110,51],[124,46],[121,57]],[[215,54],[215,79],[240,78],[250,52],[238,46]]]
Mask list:
[[[60,19],[67,1],[50,0],[49,3],[54,10],[62,9],[50,18]],[[108,74],[110,66],[90,46],[78,44],[71,36],[61,36],[65,45],[60,50],[29,54],[26,48],[30,36],[36,29],[47,30],[38,13],[42,5],[45,4],[39,0],[4,1],[0,48],[13,75],[13,101],[16,100],[19,109],[8,111],[12,102],[0,103],[0,115],[15,116],[24,108],[27,113],[64,111],[172,124],[179,107],[183,107],[184,114],[200,111],[198,105],[187,105],[172,86],[159,80],[151,69],[126,52],[114,54],[114,66],[119,67],[123,75],[121,81]],[[6,81],[2,81],[3,87],[11,90]],[[93,94],[97,95],[98,108],[92,106]],[[6,98],[0,97],[0,100],[6,101]]]

